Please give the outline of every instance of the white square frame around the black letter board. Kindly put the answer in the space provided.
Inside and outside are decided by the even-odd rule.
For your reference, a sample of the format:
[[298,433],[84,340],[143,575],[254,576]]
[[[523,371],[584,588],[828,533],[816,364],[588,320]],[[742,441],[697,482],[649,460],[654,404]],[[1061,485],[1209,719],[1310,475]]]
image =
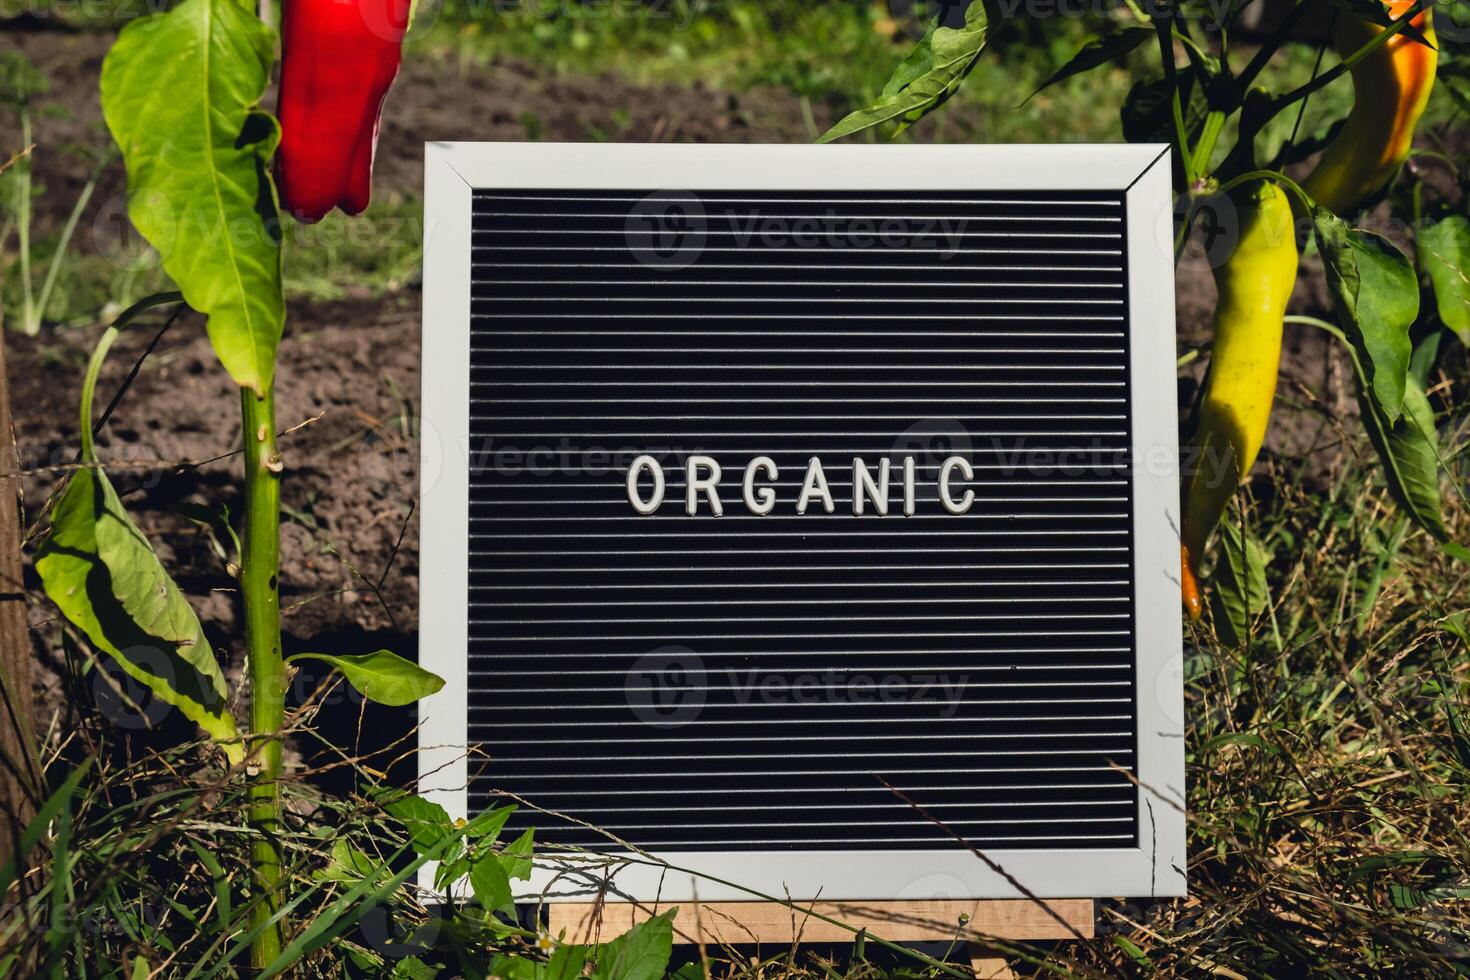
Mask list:
[[[917,176],[917,175],[922,175]],[[704,145],[431,143],[425,160],[420,663],[445,686],[419,704],[419,789],[467,815],[470,215],[473,190],[1116,191],[1125,195],[1136,642],[1138,842],[986,849],[1041,898],[1180,896],[1185,871],[1173,207],[1166,145]],[[738,473],[726,479],[738,479]],[[738,492],[731,505],[741,507]],[[476,767],[494,771],[494,745]],[[525,898],[1023,898],[963,846],[678,851],[592,864],[539,852]],[[659,858],[660,855],[654,855]],[[578,871],[584,868],[585,871]],[[431,883],[428,874],[422,879]],[[744,887],[736,887],[744,886]]]

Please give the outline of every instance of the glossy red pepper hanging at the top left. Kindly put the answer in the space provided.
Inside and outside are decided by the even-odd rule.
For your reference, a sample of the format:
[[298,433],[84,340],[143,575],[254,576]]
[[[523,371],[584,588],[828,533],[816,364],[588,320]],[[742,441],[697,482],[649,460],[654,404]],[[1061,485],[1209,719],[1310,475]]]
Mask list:
[[398,75],[409,7],[410,0],[285,0],[276,184],[297,219],[368,207],[378,119]]

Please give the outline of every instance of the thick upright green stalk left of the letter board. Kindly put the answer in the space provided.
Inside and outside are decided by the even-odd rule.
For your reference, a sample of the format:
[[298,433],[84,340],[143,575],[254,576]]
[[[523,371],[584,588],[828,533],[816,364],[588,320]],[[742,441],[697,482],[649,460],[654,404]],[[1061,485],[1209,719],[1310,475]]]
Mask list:
[[[285,724],[285,667],[281,661],[281,454],[275,445],[275,391],[241,389],[245,439],[245,533],[240,589],[245,599],[250,651],[250,845],[260,901],[251,926],[265,926],[281,908],[281,729]],[[281,923],[262,929],[250,962],[263,968],[281,955]]]

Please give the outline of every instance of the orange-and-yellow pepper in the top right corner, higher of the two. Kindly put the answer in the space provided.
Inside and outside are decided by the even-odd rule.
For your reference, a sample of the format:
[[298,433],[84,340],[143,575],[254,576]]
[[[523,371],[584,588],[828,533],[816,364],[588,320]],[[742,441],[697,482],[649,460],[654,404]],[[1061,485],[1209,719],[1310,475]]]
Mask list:
[[[1399,18],[1413,0],[1388,0]],[[1411,24],[1438,46],[1429,10]],[[1338,54],[1348,57],[1383,28],[1351,13],[1338,15]],[[1352,112],[1323,151],[1317,167],[1302,182],[1319,204],[1335,213],[1355,209],[1383,190],[1408,157],[1414,126],[1424,115],[1435,87],[1439,51],[1399,31],[1352,66]]]

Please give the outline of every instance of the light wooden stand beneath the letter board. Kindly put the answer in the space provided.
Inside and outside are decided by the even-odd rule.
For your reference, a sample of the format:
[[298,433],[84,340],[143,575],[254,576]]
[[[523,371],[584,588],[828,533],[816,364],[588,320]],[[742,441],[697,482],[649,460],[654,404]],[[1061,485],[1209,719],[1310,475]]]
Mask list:
[[662,908],[632,902],[564,902],[547,905],[547,924],[553,936],[566,930],[567,942],[607,942],[670,904],[681,907],[673,930],[675,940],[682,943],[789,946],[794,942],[853,940],[851,932],[807,914],[817,912],[891,942],[966,942],[976,976],[994,980],[1011,973],[1004,958],[986,949],[988,942],[1091,939],[1095,921],[1094,899],[1066,898],[1047,899],[1047,908],[1030,899],[797,902],[795,908],[779,902],[666,902]]

